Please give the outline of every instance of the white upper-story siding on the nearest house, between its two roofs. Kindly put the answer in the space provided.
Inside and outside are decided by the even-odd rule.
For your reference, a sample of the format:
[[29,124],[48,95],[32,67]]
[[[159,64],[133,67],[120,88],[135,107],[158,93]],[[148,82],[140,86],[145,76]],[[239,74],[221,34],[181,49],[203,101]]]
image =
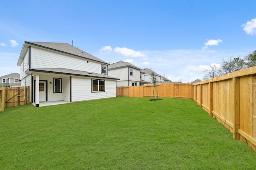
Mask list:
[[101,63],[47,49],[31,47],[30,60],[31,68],[67,68],[101,74]]

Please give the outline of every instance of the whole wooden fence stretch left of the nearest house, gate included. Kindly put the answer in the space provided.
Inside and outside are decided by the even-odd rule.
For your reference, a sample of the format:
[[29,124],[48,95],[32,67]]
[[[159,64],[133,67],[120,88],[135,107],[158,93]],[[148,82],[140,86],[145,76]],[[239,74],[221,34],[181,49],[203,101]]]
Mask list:
[[30,104],[30,86],[0,88],[0,112],[3,112],[5,107],[25,104]]

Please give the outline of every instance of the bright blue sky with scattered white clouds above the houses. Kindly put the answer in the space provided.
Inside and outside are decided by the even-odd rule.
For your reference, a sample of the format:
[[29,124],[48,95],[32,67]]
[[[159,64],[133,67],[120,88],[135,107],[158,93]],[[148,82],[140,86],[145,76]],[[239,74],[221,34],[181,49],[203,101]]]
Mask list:
[[[61,42],[172,81],[256,50],[255,0],[8,0],[0,3],[0,76],[19,72],[24,41]],[[76,68],[74,68],[76,69]]]

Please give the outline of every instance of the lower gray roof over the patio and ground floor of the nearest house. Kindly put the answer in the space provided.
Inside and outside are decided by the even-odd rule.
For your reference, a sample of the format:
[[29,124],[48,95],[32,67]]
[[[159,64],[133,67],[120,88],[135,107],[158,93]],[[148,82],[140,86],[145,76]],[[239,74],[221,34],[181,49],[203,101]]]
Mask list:
[[120,80],[119,78],[110,77],[104,74],[98,74],[95,72],[87,72],[87,71],[80,71],[80,70],[72,70],[67,68],[34,68],[34,69],[30,68],[26,71],[26,74],[32,74],[33,72],[45,72],[45,73],[52,73],[52,74],[65,74],[65,75],[72,75],[72,76],[85,76],[85,77]]

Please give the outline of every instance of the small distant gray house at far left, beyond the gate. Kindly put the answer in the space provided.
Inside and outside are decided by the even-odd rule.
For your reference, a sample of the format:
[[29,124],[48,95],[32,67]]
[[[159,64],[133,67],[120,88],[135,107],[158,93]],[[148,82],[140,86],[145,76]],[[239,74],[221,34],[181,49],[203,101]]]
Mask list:
[[0,77],[0,84],[3,87],[17,87],[20,86],[20,74],[19,73],[12,73],[5,76]]

